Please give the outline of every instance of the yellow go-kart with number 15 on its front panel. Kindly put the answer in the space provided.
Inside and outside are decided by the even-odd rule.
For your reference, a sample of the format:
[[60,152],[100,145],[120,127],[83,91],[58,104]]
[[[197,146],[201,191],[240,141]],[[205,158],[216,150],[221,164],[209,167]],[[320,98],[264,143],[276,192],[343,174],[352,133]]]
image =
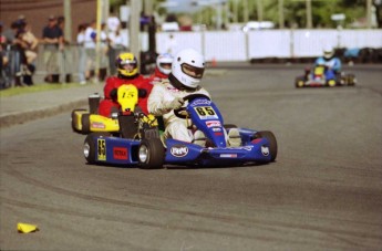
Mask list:
[[89,96],[90,109],[73,109],[72,129],[79,134],[107,133],[124,138],[140,138],[140,126],[146,123],[149,126],[157,126],[153,115],[145,115],[137,106],[138,90],[135,85],[123,84],[117,88],[117,102],[121,111],[113,113],[112,117],[97,114],[100,95]]

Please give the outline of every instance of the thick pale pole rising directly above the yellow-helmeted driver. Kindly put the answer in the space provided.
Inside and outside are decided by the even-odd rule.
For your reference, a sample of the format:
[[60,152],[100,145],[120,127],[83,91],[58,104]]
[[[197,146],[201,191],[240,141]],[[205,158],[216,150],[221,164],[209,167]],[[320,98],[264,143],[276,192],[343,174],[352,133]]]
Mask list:
[[141,62],[141,48],[140,48],[140,19],[142,12],[142,1],[131,0],[130,1],[131,15],[128,21],[128,38],[130,38],[130,51]]

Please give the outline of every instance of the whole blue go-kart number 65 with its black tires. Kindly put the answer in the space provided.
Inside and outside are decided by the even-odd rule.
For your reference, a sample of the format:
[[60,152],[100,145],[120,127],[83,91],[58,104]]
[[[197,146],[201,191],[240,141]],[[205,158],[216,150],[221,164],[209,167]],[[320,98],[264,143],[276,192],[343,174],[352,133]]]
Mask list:
[[[144,119],[132,117],[131,123],[137,125],[134,137],[113,137],[100,133],[87,135],[84,142],[87,163],[161,168],[164,165],[237,166],[275,161],[277,140],[271,132],[224,125],[220,112],[206,95],[192,94],[185,101],[186,106],[174,113],[190,122],[189,129],[203,132],[205,138],[198,140],[202,139],[205,145],[163,139],[159,126],[151,126]],[[236,134],[231,134],[233,128]],[[236,145],[229,145],[229,142]]]

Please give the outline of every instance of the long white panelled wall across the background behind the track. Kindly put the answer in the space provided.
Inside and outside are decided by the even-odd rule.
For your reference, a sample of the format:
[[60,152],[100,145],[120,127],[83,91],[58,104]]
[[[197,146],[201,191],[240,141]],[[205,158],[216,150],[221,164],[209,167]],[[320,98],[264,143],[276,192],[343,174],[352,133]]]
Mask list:
[[[171,38],[173,36],[173,38]],[[262,30],[159,32],[158,53],[194,48],[207,61],[319,56],[324,46],[382,48],[382,30]]]

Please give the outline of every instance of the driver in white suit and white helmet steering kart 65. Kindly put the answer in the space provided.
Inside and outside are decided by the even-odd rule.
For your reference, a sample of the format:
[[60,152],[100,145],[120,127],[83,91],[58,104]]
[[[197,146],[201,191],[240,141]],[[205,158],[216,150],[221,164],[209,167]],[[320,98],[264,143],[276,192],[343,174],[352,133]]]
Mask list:
[[[210,96],[199,83],[205,70],[203,55],[194,49],[186,49],[176,54],[172,64],[168,80],[154,85],[147,108],[155,116],[163,116],[165,124],[165,138],[174,138],[193,143],[194,136],[187,129],[187,119],[175,116],[174,109],[180,108],[184,97],[190,94]],[[202,133],[202,132],[200,132]]]

